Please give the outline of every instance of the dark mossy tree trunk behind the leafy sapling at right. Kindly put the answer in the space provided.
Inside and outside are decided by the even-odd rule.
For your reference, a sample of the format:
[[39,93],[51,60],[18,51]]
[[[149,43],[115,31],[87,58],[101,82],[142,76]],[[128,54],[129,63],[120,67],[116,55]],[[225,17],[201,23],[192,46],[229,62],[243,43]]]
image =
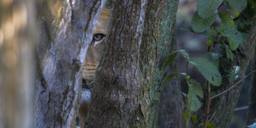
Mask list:
[[[256,9],[252,9],[251,5],[248,3],[246,9],[241,12],[240,16],[235,20],[235,24],[237,29],[242,33],[246,34],[246,38],[242,47],[244,48],[246,54],[253,55],[255,50],[255,25],[256,25]],[[240,50],[236,50],[237,59],[234,62],[228,62],[226,56],[220,58],[220,66],[219,71],[222,74],[222,84],[219,87],[211,86],[211,93],[220,93],[227,90],[229,87],[232,86],[228,82],[228,74],[232,70],[232,66],[238,65],[240,63],[240,71],[239,71],[239,81],[241,78],[245,76],[247,66],[251,57],[246,56],[243,53],[242,48]],[[235,55],[235,54],[234,54]],[[226,99],[224,102],[219,104],[210,114],[209,117],[212,117],[213,113],[216,112],[213,119],[210,123],[213,123],[217,127],[220,128],[228,128],[230,124],[230,119],[234,111],[234,107],[237,104],[237,100],[239,98],[240,90],[243,86],[243,82],[236,86],[234,89],[230,90],[229,93],[222,95],[218,98],[211,100],[211,109],[216,106],[221,100]],[[206,102],[206,99],[203,100]],[[255,107],[255,106],[254,106]],[[221,110],[221,111],[220,111]],[[198,117],[201,117],[205,111],[205,104],[202,106],[201,109],[198,111]]]

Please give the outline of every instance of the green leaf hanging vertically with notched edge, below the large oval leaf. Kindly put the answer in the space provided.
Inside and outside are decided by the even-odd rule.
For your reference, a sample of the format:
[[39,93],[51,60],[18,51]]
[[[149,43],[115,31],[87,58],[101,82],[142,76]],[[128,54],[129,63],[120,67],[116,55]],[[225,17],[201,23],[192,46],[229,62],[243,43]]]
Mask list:
[[187,95],[188,97],[187,104],[189,106],[189,109],[195,112],[202,105],[202,103],[197,98],[197,96],[203,98],[202,87],[196,80],[187,80],[187,83],[189,85],[189,93]]

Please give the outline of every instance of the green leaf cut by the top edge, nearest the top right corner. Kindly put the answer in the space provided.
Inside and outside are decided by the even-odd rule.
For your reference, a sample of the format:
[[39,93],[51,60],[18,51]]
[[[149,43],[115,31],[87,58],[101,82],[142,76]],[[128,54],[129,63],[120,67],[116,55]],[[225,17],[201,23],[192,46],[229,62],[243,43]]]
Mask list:
[[247,5],[247,0],[228,0],[228,3],[237,12],[242,12]]

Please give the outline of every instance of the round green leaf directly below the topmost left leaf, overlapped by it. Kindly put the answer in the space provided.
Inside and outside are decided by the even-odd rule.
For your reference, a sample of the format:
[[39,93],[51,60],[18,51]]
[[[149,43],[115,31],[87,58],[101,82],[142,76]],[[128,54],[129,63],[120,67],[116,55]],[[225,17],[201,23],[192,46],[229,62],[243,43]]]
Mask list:
[[211,26],[211,24],[213,24],[213,22],[215,21],[217,14],[218,14],[218,11],[216,10],[208,18],[202,18],[198,15],[197,12],[195,12],[192,18],[192,25],[191,25],[192,29],[197,33],[206,31],[206,29],[208,29]]

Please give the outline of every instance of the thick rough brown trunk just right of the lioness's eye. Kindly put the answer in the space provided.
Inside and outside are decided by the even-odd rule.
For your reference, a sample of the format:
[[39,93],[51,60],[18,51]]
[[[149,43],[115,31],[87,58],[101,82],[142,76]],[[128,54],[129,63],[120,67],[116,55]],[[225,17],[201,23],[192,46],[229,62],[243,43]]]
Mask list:
[[[160,64],[170,52],[172,40],[161,25],[171,29],[175,20],[175,16],[166,16],[161,22],[163,10],[171,6],[164,8],[165,2],[114,2],[103,58],[93,83],[87,127],[157,127],[160,83],[166,73]],[[171,2],[177,5],[178,1],[167,3]],[[165,36],[170,38],[162,39]]]

